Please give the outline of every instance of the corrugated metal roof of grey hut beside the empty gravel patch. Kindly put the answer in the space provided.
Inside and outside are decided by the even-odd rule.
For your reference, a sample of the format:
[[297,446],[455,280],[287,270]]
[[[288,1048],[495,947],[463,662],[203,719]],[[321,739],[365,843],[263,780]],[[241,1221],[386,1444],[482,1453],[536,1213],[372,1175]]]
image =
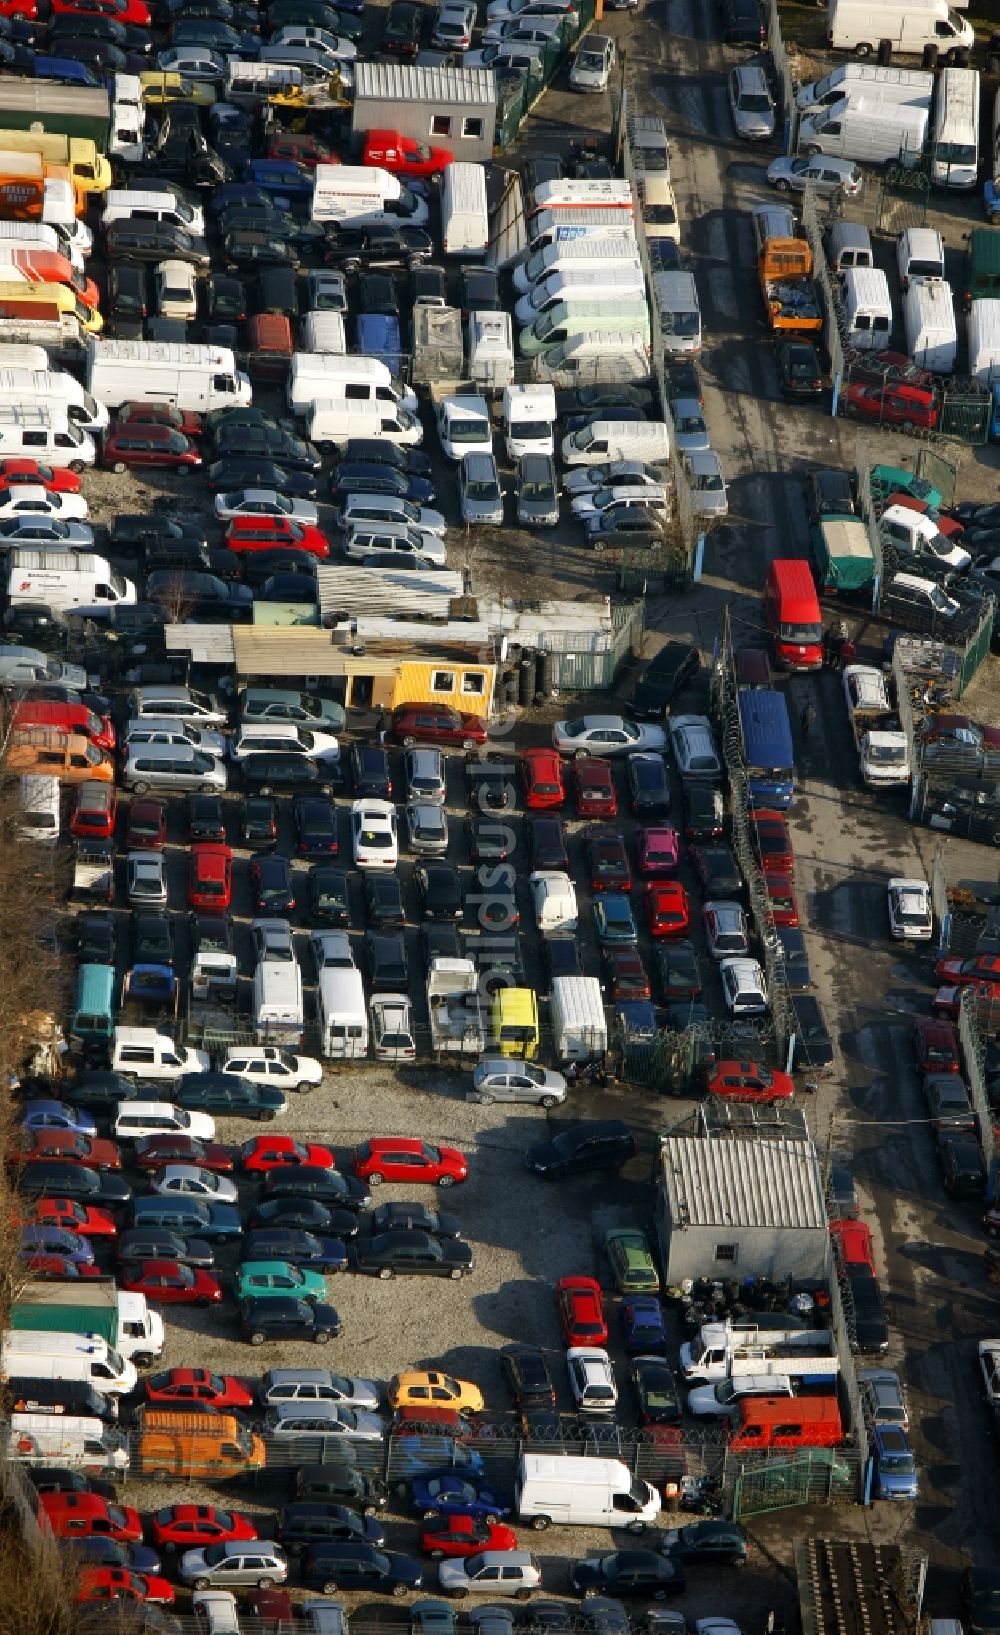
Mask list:
[[668,1136],[662,1166],[673,1225],[827,1230],[812,1141]]

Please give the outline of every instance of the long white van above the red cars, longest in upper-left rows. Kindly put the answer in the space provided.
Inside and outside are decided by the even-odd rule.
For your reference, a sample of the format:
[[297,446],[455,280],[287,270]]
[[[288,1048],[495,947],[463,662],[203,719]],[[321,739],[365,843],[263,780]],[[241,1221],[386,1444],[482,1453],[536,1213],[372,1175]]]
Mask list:
[[160,402],[208,414],[250,402],[250,378],[237,370],[230,347],[96,338],[87,355],[87,386],[108,409]]

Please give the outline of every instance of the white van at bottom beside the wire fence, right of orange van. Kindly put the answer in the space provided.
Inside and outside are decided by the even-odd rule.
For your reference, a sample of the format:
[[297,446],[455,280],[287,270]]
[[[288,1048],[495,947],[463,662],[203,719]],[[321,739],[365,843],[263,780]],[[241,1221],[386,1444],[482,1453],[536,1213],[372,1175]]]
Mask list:
[[518,1517],[536,1532],[551,1525],[627,1527],[645,1532],[660,1514],[652,1483],[621,1458],[523,1454],[515,1483]]

